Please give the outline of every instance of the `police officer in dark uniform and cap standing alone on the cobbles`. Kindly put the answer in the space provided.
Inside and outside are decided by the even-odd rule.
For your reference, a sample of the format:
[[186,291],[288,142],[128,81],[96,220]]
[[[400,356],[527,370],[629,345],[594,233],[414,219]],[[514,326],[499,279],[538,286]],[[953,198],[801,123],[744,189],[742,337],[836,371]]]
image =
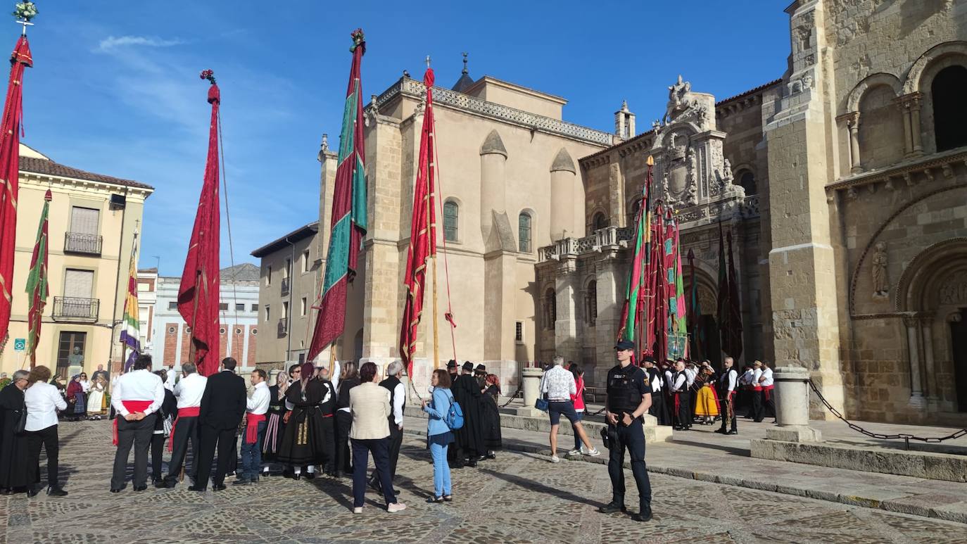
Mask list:
[[645,431],[642,415],[652,404],[652,387],[645,371],[631,364],[634,344],[622,340],[615,346],[618,364],[607,373],[606,412],[610,458],[607,472],[611,476],[611,502],[599,511],[611,514],[625,510],[625,449],[631,456],[631,473],[638,488],[640,509],[631,519],[652,519],[652,486],[645,468]]

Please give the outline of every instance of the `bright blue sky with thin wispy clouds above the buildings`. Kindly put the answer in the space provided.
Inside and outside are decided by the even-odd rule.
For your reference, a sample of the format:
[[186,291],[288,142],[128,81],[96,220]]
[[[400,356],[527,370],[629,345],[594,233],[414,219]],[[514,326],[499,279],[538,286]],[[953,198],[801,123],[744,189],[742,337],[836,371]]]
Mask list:
[[[155,186],[140,266],[160,261],[162,274],[180,274],[207,151],[207,82],[198,72],[213,69],[234,258],[255,262],[253,248],[318,214],[316,154],[324,132],[334,140],[339,132],[356,27],[366,31],[365,97],[404,69],[419,77],[427,54],[438,83],[453,85],[467,51],[471,76],[562,96],[572,123],[610,131],[627,99],[641,131],[663,113],[679,73],[719,100],[780,76],[787,3],[39,0],[24,143]],[[18,27],[9,20],[13,47]],[[224,232],[221,246],[228,266]]]

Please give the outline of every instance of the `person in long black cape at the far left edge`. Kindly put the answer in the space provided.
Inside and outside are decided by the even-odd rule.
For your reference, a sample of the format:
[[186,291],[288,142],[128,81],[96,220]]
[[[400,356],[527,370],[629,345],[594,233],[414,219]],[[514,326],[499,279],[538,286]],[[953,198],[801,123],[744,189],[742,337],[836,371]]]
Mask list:
[[27,416],[23,389],[27,388],[26,370],[17,370],[11,383],[0,390],[0,493],[6,495],[26,491],[27,437],[18,428],[20,417]]

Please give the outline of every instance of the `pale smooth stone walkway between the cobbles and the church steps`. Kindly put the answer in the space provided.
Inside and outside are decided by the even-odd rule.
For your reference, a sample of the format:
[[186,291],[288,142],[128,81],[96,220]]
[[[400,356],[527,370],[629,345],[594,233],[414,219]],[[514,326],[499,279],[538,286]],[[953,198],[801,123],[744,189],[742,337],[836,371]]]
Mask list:
[[[425,431],[425,420],[409,416],[406,419],[407,432]],[[824,426],[831,429],[834,437],[845,435],[830,424],[833,422],[821,423],[826,423]],[[722,436],[713,432],[718,425],[696,424],[691,431],[676,431],[673,442],[648,444],[645,455],[648,470],[693,480],[967,523],[967,483],[750,458],[749,440],[764,438],[765,429],[769,426],[771,423],[740,420],[740,434],[737,436]],[[849,431],[848,427],[842,426]],[[549,454],[546,433],[506,427],[502,432],[504,445],[508,449],[543,456]],[[825,435],[825,429],[823,433]],[[845,440],[847,437],[845,435],[833,440]],[[571,440],[570,435],[559,438],[558,445],[567,451],[571,448]],[[594,444],[601,444],[600,437],[591,436],[591,440]],[[607,462],[607,452],[602,450],[602,453],[601,457],[579,459],[603,464]],[[563,455],[563,452],[559,452],[559,455]]]

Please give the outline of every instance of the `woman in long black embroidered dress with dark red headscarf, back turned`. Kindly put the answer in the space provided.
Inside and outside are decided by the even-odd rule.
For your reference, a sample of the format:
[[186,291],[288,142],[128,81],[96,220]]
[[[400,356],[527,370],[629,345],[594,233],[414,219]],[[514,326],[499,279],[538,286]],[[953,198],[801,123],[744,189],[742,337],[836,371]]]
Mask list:
[[302,477],[303,468],[306,468],[307,479],[315,477],[315,466],[322,461],[324,444],[319,403],[323,400],[325,388],[321,382],[312,379],[313,371],[312,363],[304,363],[303,378],[285,391],[285,407],[291,411],[282,417],[285,435],[277,459],[289,466],[286,475],[291,474],[294,479]]

